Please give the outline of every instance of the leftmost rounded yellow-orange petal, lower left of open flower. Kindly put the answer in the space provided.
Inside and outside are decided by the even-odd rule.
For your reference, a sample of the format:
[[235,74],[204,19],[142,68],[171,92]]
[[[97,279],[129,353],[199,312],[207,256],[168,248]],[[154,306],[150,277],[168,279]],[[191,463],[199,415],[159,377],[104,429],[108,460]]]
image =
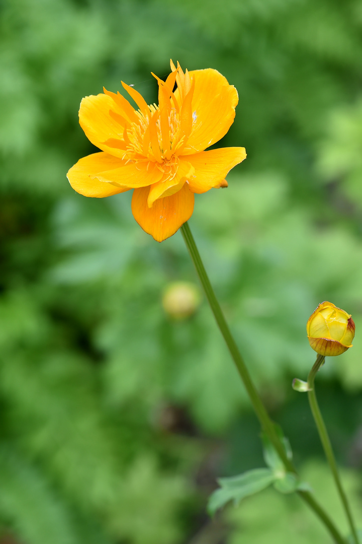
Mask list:
[[124,189],[112,185],[112,183],[105,183],[97,180],[96,175],[99,171],[107,169],[117,169],[119,167],[120,160],[108,153],[100,151],[99,153],[93,153],[87,157],[83,157],[78,160],[77,164],[74,164],[68,171],[67,178],[71,186],[77,193],[84,196],[94,196],[103,198],[104,196],[116,195],[117,193],[124,193],[128,188]]

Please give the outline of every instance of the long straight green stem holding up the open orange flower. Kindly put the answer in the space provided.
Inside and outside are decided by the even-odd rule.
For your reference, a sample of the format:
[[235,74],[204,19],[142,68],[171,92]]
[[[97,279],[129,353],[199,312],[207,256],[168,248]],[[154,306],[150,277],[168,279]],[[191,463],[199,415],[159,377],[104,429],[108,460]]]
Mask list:
[[[251,380],[249,370],[247,370],[243,357],[240,355],[236,342],[234,341],[234,338],[231,335],[231,332],[226,323],[223,311],[221,310],[219,302],[215,296],[214,290],[208,279],[204,264],[201,261],[198,248],[196,247],[195,240],[192,236],[190,227],[188,226],[187,222],[182,225],[181,233],[182,233],[183,239],[185,240],[190,257],[194,263],[196,273],[199,276],[201,285],[204,288],[206,298],[214,314],[215,320],[219,326],[221,334],[224,337],[224,340],[226,342],[228,350],[230,351],[233,361],[236,364],[240,378],[243,381],[243,384],[245,386],[247,394],[249,395],[253,409],[255,410],[257,418],[259,419],[259,422],[262,426],[262,429],[269,436],[271,443],[275,447],[276,451],[278,452],[278,455],[280,456],[280,458],[282,459],[284,463],[285,469],[287,469],[288,472],[296,473],[296,469],[293,463],[291,463],[291,461],[288,459],[287,454],[285,453],[285,449],[283,447],[283,444],[280,438],[277,435],[274,424],[271,421],[269,414],[266,411],[261,398],[259,397],[256,387]],[[339,530],[335,527],[335,524],[333,523],[331,518],[328,516],[327,512],[322,508],[322,506],[320,506],[320,504],[316,502],[313,495],[309,493],[308,491],[298,491],[298,494],[310,506],[310,508],[314,510],[315,514],[320,518],[321,522],[325,524],[327,530],[329,531],[329,534],[331,534],[331,536],[333,537],[334,542],[336,544],[346,544],[345,539],[341,536]]]

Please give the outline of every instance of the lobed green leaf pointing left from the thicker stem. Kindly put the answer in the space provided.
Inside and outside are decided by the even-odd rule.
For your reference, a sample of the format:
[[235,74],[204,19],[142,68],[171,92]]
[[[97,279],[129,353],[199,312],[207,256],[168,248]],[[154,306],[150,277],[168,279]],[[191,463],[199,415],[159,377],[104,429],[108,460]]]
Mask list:
[[275,474],[270,468],[256,468],[232,478],[220,478],[220,489],[209,498],[208,512],[213,515],[230,500],[237,504],[240,500],[258,491],[262,491],[275,481]]

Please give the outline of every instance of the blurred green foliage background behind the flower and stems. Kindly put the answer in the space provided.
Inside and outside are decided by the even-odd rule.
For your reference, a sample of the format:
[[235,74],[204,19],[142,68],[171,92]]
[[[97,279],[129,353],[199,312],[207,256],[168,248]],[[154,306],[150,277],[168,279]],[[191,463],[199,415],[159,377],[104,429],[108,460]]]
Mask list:
[[316,305],[353,314],[354,347],[317,387],[362,511],[361,0],[2,0],[2,544],[329,542],[274,490],[208,518],[215,478],[263,461],[181,234],[158,244],[130,193],[89,199],[66,180],[96,151],[81,98],[122,79],[154,102],[150,71],[170,58],[238,90],[217,146],[247,159],[228,189],[196,195],[189,223],[265,404],[344,530],[291,380],[314,362]]

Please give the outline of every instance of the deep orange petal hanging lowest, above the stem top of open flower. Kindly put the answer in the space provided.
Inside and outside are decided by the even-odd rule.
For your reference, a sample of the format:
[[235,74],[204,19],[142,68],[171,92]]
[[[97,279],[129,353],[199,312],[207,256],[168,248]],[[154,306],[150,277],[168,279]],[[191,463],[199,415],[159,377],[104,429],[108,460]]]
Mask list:
[[139,226],[157,242],[166,240],[185,223],[194,209],[194,194],[187,183],[172,196],[158,199],[148,207],[148,187],[135,189],[132,196],[132,213]]

